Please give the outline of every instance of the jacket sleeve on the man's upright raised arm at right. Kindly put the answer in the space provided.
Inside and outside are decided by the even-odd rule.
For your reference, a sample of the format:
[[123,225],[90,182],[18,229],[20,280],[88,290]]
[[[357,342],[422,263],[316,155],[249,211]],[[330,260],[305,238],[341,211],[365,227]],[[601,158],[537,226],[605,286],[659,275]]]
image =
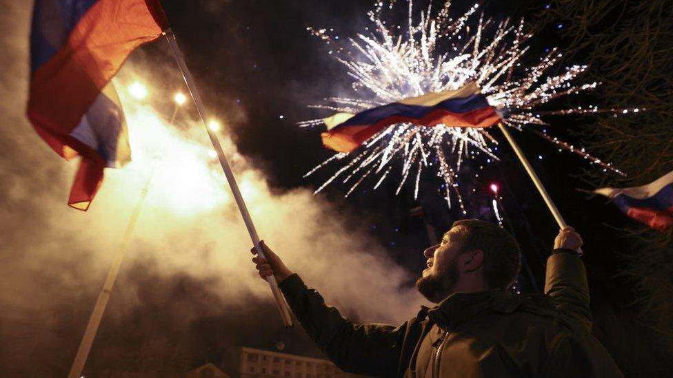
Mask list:
[[545,294],[565,317],[591,332],[589,284],[584,263],[575,253],[555,251],[547,260]]

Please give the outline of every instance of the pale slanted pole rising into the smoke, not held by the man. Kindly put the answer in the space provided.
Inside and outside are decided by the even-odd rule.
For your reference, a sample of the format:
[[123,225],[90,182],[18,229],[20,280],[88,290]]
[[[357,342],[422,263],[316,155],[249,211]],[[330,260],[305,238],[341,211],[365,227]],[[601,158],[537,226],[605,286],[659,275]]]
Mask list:
[[148,189],[150,189],[150,182],[152,181],[152,176],[154,176],[154,169],[156,165],[152,167],[150,176],[145,182],[145,187],[141,191],[140,199],[138,204],[136,204],[131,218],[128,221],[126,226],[126,231],[124,231],[124,236],[117,250],[117,254],[114,255],[114,260],[112,260],[112,265],[108,271],[108,276],[106,277],[101,293],[98,295],[98,300],[96,300],[96,305],[94,306],[94,311],[91,313],[89,322],[86,325],[86,330],[84,331],[84,336],[82,341],[79,343],[79,348],[77,349],[77,355],[72,361],[72,366],[70,367],[70,372],[68,373],[68,378],[80,378],[82,376],[82,370],[84,369],[84,364],[86,364],[86,359],[91,350],[91,345],[96,338],[98,333],[98,328],[101,325],[101,319],[103,319],[103,313],[105,313],[106,307],[108,306],[108,300],[110,299],[110,293],[112,293],[112,286],[114,286],[114,281],[117,280],[117,274],[119,274],[119,269],[121,268],[121,262],[123,261],[126,250],[128,249],[128,243],[131,240],[131,235],[133,230],[136,227],[136,221],[140,216],[140,211],[143,209],[143,204],[145,203],[145,198],[147,198]]

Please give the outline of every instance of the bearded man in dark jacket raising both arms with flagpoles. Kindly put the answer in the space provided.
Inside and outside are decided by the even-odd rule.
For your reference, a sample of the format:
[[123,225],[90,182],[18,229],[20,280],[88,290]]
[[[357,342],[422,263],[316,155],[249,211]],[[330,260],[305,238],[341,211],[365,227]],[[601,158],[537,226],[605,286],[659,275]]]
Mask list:
[[[521,251],[507,231],[459,220],[416,282],[436,304],[399,326],[353,324],[262,243],[259,275],[274,275],[308,335],[341,370],[376,377],[622,377],[591,334],[582,238],[567,227],[547,261],[544,295],[510,294]],[[252,253],[255,253],[254,248]]]

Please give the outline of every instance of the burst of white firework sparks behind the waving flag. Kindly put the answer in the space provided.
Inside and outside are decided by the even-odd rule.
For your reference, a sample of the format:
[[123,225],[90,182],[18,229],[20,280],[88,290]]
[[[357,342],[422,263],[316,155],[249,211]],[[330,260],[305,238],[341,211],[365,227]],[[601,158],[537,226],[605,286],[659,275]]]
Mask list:
[[[394,1],[390,3],[390,9]],[[594,105],[574,109],[543,110],[541,105],[554,98],[591,90],[598,83],[576,84],[574,79],[587,70],[585,65],[565,67],[561,74],[548,74],[550,67],[561,59],[556,48],[539,61],[525,66],[528,51],[525,43],[532,36],[523,31],[523,20],[512,24],[509,19],[496,23],[485,20],[474,5],[459,19],[449,15],[450,1],[432,16],[432,4],[421,12],[414,23],[412,0],[408,1],[408,28],[383,21],[383,1],[376,2],[369,13],[373,30],[357,34],[343,43],[333,30],[308,28],[332,47],[330,54],[343,63],[348,76],[354,79],[354,92],[370,92],[373,98],[327,98],[326,104],[312,105],[332,112],[358,113],[365,109],[421,96],[430,92],[456,90],[476,81],[490,105],[501,112],[503,123],[515,129],[528,129],[554,143],[559,149],[572,151],[599,165],[604,171],[623,174],[609,162],[587,154],[558,138],[549,136],[530,125],[544,127],[547,115],[609,112],[616,114],[638,112],[639,109],[599,109]],[[368,90],[368,91],[363,91]],[[299,123],[301,126],[321,125],[322,119]],[[392,125],[368,140],[353,153],[337,153],[309,171],[332,163],[342,166],[316,191],[330,183],[341,181],[348,185],[345,196],[359,187],[365,178],[373,178],[374,189],[388,178],[394,169],[401,169],[396,190],[412,181],[414,198],[419,193],[423,172],[431,172],[443,180],[445,196],[451,207],[451,191],[465,213],[459,191],[459,172],[465,159],[499,160],[497,140],[489,129],[461,128],[451,125],[423,127],[410,123]]]

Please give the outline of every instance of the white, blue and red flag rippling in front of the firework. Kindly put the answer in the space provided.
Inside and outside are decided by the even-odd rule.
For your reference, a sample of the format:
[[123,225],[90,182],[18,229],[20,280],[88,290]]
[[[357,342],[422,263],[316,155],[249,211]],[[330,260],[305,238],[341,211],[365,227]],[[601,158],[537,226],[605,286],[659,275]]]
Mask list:
[[395,123],[491,127],[500,122],[500,117],[476,83],[470,82],[458,90],[405,98],[358,114],[337,113],[323,121],[328,127],[328,132],[322,134],[323,145],[335,151],[350,152]]

